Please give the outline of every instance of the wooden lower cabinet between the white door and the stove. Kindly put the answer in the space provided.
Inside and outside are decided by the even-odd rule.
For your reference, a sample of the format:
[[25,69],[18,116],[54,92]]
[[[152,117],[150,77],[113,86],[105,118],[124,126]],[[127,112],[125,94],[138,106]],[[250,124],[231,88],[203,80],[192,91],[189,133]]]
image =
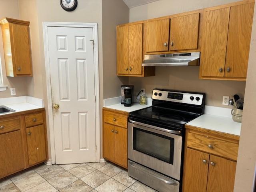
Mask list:
[[103,110],[103,156],[124,168],[127,168],[128,160],[127,118],[128,113]]

